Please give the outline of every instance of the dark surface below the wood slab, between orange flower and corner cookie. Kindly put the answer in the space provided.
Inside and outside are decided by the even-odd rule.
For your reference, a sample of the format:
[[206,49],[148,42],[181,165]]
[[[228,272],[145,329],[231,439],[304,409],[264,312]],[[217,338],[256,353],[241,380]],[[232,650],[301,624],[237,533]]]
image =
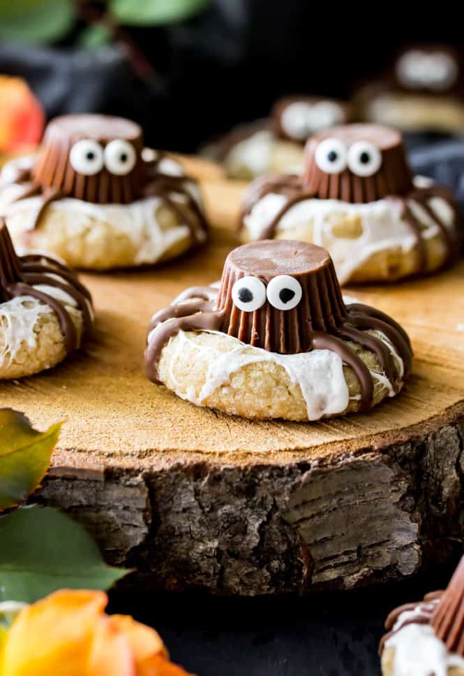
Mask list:
[[451,572],[306,598],[114,591],[110,611],[156,627],[172,659],[200,676],[380,676],[387,614],[446,587]]

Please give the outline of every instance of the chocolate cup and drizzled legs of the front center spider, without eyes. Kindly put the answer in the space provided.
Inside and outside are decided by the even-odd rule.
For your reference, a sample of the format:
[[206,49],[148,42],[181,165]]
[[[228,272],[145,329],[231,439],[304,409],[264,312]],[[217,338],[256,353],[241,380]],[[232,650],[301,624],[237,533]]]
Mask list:
[[[264,285],[278,275],[291,275],[301,286],[301,301],[290,310],[277,310],[269,301],[253,312],[232,301],[232,287],[248,275]],[[401,326],[380,310],[361,303],[345,305],[326,251],[290,240],[267,240],[233,250],[223,270],[219,289],[193,287],[151,319],[145,351],[147,375],[158,380],[158,360],[168,340],[179,331],[221,331],[253,347],[278,354],[331,350],[357,375],[361,405],[371,408],[373,377],[364,361],[345,341],[375,354],[394,391],[410,373],[412,350]],[[381,331],[403,360],[404,373],[387,345],[367,331]]]

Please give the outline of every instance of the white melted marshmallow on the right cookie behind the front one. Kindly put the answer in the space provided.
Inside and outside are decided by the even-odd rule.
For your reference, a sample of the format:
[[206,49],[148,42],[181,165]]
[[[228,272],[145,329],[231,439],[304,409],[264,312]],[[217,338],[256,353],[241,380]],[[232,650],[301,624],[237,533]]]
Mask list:
[[[285,203],[287,197],[277,193],[269,193],[255,203],[244,218],[251,239],[260,239],[262,232]],[[446,201],[432,197],[428,204],[447,227],[454,226],[454,213]],[[424,225],[422,231],[424,238],[428,239],[440,233],[440,226],[419,203],[409,200],[408,205],[414,216]],[[306,199],[287,210],[278,222],[276,232],[285,233],[286,230],[311,223],[313,243],[329,250],[338,280],[343,285],[373,254],[395,247],[400,247],[403,252],[412,250],[416,238],[410,225],[401,217],[401,211],[401,203],[389,199],[363,204],[352,204],[336,199]],[[344,220],[348,224],[351,220],[360,227],[358,237],[337,236],[334,229]]]

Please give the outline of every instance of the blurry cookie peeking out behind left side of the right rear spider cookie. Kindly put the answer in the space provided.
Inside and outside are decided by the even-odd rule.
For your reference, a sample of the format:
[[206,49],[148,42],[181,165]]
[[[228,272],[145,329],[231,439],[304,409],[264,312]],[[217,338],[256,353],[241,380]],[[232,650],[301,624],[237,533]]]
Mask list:
[[352,119],[350,106],[320,96],[285,96],[269,117],[235,127],[205,153],[223,164],[229,178],[251,180],[262,173],[295,172],[303,165],[309,136]]

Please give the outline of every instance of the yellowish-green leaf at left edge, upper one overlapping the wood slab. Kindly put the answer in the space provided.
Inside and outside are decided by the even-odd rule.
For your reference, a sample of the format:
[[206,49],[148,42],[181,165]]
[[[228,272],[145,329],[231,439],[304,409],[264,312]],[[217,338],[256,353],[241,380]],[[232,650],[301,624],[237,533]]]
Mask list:
[[38,432],[22,413],[0,409],[0,512],[36,490],[50,466],[60,429],[57,423]]

